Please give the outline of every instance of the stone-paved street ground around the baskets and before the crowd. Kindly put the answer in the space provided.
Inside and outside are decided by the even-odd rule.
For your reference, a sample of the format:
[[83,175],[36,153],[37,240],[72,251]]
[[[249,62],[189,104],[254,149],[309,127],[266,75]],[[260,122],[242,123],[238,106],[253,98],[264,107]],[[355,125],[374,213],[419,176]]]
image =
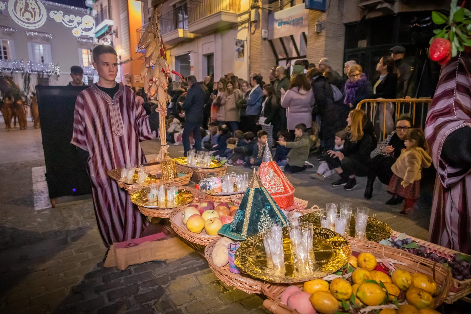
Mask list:
[[[1,119],[0,119],[1,120]],[[1,125],[1,124],[0,124]],[[159,150],[143,143],[146,155]],[[103,267],[104,248],[89,196],[59,198],[56,208],[34,210],[32,167],[43,166],[40,130],[0,130],[0,313],[266,313],[262,299],[224,286],[203,256],[153,261],[125,271]],[[182,154],[171,145],[172,156]],[[229,171],[248,172],[241,166]],[[385,187],[363,199],[365,181],[345,191],[305,174],[288,175],[309,205],[351,200],[372,208],[394,230],[427,238],[430,206],[411,217],[388,207]]]

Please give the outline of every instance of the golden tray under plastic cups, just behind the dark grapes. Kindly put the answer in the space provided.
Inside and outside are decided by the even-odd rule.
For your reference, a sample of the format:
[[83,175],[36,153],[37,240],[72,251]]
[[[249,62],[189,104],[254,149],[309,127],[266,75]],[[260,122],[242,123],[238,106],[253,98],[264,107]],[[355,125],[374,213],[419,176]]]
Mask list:
[[[355,215],[352,214],[350,219],[350,237],[355,238]],[[321,226],[321,217],[319,212],[313,212],[306,215],[302,215],[301,222],[303,223],[312,223],[313,225],[320,227]],[[392,236],[391,227],[376,218],[368,217],[366,223],[366,239],[372,242],[380,242],[381,240],[389,239]]]

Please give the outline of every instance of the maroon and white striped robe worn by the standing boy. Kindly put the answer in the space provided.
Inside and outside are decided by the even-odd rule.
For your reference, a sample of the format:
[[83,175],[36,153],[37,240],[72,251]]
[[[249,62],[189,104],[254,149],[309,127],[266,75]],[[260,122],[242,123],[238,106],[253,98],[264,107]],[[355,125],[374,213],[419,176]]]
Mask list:
[[128,192],[107,172],[145,163],[139,141],[154,137],[146,111],[130,88],[121,85],[111,99],[93,85],[75,101],[71,143],[89,153],[93,205],[106,247],[139,238],[147,224]]

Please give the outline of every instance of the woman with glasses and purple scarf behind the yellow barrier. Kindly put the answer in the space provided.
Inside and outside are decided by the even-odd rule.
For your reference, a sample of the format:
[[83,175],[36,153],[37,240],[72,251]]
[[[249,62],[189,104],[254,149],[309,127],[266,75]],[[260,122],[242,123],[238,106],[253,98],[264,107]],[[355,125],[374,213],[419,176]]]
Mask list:
[[348,71],[349,79],[345,82],[343,103],[350,108],[356,107],[363,99],[369,99],[373,95],[373,86],[363,73],[360,65],[350,66]]

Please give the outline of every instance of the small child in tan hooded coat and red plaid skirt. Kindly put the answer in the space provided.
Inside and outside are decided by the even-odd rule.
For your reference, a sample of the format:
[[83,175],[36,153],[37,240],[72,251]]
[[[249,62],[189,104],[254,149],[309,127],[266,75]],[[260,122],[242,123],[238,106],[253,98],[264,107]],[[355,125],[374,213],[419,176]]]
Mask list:
[[427,154],[427,142],[421,129],[410,129],[404,136],[406,149],[392,165],[393,176],[388,192],[405,198],[400,215],[409,215],[416,207],[420,195],[422,168],[430,167],[432,158]]

